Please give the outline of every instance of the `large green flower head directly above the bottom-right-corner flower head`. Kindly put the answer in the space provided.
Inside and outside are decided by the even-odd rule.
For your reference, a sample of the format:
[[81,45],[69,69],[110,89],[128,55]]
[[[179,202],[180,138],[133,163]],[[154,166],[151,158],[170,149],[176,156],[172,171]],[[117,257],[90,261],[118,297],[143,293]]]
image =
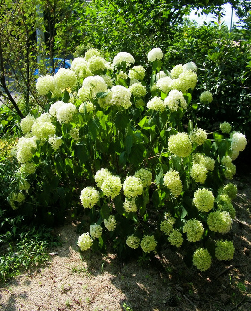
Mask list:
[[231,229],[232,219],[226,211],[216,211],[208,215],[208,227],[211,231],[227,233]]

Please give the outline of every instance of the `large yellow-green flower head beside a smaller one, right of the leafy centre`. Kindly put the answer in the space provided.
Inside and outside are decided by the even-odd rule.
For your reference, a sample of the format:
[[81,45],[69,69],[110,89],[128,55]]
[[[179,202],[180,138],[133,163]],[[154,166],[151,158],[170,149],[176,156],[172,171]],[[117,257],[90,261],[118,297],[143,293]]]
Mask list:
[[168,140],[168,149],[172,154],[179,157],[186,157],[192,151],[192,143],[187,133],[177,133],[170,136]]

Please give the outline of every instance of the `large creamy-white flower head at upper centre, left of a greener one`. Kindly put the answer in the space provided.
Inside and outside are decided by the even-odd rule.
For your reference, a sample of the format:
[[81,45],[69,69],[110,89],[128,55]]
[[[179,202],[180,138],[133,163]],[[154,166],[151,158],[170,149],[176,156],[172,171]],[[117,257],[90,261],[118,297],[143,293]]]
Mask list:
[[128,109],[132,105],[130,101],[131,95],[128,88],[120,85],[113,86],[111,88],[111,104]]

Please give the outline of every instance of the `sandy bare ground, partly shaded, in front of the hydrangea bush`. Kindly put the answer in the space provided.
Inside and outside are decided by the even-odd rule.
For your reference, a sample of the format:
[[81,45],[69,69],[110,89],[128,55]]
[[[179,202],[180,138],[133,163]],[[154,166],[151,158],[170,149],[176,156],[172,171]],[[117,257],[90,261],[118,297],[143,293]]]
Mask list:
[[[251,183],[235,180],[236,218],[231,262],[214,261],[198,272],[168,248],[150,264],[124,264],[115,255],[76,245],[76,225],[57,229],[62,246],[48,265],[0,285],[1,311],[250,311]],[[83,257],[82,257],[83,256]]]

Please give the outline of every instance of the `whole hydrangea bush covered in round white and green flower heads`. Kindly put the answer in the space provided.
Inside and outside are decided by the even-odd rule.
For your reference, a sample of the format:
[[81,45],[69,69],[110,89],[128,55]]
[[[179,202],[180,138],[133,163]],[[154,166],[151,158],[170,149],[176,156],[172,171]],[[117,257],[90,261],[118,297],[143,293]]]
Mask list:
[[[38,78],[48,104],[20,123],[10,203],[42,221],[81,207],[90,220],[82,251],[111,243],[121,255],[151,256],[167,244],[192,249],[191,262],[204,271],[214,257],[233,258],[233,243],[223,241],[235,216],[229,180],[247,141],[226,122],[209,133],[187,119],[196,110],[197,66],[168,71],[163,56],[149,52],[146,76],[129,53],[108,62],[90,49],[71,69]],[[212,96],[203,92],[201,101]]]

